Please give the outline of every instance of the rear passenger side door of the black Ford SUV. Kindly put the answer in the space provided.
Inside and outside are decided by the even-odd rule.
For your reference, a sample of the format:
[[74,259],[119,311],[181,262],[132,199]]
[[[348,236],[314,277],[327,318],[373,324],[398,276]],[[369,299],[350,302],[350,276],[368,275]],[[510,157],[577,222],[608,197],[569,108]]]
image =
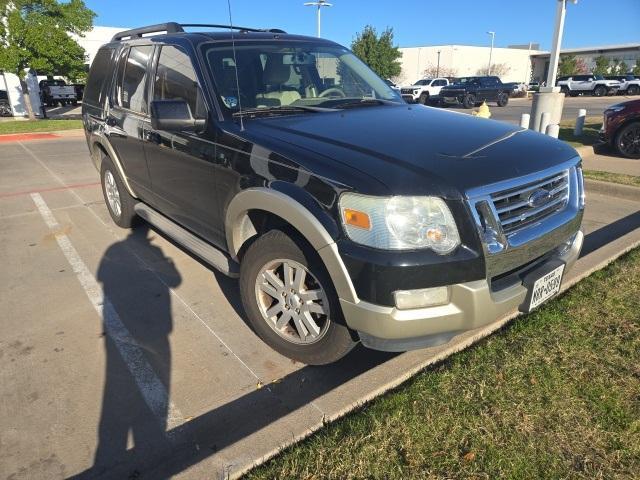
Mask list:
[[143,132],[145,125],[149,125],[147,71],[153,49],[151,45],[139,45],[121,52],[106,119],[111,146],[123,165],[127,180],[142,198],[151,187]]

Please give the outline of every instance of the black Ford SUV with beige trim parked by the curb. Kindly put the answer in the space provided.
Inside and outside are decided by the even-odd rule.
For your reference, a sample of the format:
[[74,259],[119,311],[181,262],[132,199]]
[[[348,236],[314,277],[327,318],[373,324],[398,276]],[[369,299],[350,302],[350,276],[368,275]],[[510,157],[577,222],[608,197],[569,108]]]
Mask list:
[[557,293],[583,239],[573,148],[407,105],[327,40],[193,27],[99,50],[87,143],[114,222],[239,276],[278,352],[436,345]]

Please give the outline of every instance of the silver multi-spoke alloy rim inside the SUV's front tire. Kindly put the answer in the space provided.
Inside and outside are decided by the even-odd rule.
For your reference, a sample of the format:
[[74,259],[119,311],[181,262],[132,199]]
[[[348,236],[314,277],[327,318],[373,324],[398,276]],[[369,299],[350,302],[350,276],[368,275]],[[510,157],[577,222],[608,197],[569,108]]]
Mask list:
[[308,345],[329,329],[325,290],[304,265],[272,260],[260,269],[255,292],[262,318],[285,340]]

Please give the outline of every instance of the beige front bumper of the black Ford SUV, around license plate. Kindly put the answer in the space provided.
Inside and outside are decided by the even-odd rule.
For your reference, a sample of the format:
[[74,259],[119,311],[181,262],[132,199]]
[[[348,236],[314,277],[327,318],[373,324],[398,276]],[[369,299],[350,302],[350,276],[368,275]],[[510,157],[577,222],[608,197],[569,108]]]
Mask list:
[[[552,260],[562,260],[567,265],[566,272],[577,260],[583,240],[583,233],[578,231],[535,268]],[[343,299],[340,304],[347,324],[358,332],[365,346],[406,351],[446,343],[462,331],[497,321],[515,312],[526,295],[522,282],[494,291],[488,280],[477,280],[452,285],[450,302],[436,307],[398,310]]]

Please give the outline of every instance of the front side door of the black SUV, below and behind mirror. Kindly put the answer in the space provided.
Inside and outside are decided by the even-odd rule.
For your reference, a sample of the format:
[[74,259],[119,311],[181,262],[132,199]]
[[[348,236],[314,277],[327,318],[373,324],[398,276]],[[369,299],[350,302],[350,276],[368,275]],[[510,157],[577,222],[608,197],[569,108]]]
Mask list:
[[[184,100],[194,118],[208,117],[195,69],[182,48],[159,48],[152,83],[152,100]],[[184,227],[224,245],[215,202],[215,143],[206,132],[167,132],[150,124],[144,139],[153,203]]]

